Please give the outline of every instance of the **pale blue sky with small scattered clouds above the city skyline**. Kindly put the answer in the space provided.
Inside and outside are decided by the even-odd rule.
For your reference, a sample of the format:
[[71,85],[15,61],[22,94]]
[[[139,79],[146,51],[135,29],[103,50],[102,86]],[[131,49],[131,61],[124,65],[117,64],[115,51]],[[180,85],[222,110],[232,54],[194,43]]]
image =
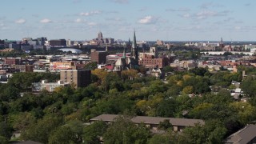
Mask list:
[[1,0],[0,39],[255,41],[255,0]]

